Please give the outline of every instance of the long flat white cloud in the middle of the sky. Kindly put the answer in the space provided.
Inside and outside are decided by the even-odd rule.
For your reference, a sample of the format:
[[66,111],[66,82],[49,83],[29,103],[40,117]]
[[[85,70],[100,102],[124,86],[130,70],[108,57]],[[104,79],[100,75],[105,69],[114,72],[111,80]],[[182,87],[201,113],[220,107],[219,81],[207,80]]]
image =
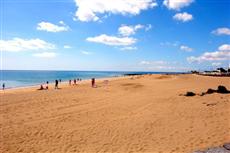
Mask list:
[[136,43],[137,41],[135,38],[132,37],[115,37],[105,34],[96,37],[88,37],[86,40],[89,42],[101,43],[110,46],[129,46]]

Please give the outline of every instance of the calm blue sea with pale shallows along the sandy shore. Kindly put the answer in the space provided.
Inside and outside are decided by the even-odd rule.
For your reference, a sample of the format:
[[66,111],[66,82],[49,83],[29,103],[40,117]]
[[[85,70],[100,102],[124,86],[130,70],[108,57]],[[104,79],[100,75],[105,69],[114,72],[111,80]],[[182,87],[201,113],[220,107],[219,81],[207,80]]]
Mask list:
[[6,89],[27,87],[44,84],[46,81],[53,83],[56,79],[68,81],[80,78],[108,78],[123,76],[130,73],[160,74],[164,72],[119,72],[119,71],[43,71],[43,70],[1,70],[1,87],[5,83]]

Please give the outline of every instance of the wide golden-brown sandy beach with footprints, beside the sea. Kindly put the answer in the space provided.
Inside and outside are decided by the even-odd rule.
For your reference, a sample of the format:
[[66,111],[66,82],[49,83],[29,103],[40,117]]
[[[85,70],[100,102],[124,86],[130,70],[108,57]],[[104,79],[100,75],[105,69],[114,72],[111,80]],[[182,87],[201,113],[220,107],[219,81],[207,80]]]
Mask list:
[[[230,142],[229,77],[144,75],[0,92],[1,153],[190,153]],[[51,89],[52,88],[52,89]]]

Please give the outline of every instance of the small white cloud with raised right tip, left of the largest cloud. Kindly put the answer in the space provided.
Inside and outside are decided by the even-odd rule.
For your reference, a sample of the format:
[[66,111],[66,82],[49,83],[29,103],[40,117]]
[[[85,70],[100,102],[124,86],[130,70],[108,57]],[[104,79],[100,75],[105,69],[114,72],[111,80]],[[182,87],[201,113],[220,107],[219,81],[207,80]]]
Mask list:
[[68,31],[69,27],[63,22],[59,22],[60,25],[55,25],[49,22],[40,22],[37,25],[37,30],[47,31],[47,32],[62,32]]

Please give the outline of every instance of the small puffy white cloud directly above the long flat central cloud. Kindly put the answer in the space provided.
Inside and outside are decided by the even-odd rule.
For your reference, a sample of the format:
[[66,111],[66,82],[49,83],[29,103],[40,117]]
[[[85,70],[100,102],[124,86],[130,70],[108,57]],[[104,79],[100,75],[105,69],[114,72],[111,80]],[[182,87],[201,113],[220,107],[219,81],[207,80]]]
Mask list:
[[127,26],[127,25],[121,25],[121,27],[118,28],[118,33],[122,36],[130,36],[134,35],[137,30],[143,29],[145,26],[141,24],[137,24],[135,26]]

